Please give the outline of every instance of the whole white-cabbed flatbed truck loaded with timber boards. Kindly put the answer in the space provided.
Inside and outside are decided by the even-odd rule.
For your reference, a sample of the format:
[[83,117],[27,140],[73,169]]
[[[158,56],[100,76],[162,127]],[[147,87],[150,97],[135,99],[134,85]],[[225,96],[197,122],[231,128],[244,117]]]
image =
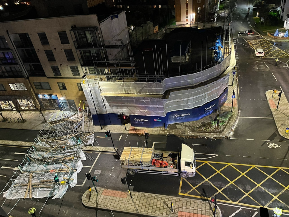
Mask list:
[[194,149],[186,144],[182,144],[180,152],[124,147],[120,161],[121,168],[128,169],[130,175],[139,172],[187,178],[196,174]]

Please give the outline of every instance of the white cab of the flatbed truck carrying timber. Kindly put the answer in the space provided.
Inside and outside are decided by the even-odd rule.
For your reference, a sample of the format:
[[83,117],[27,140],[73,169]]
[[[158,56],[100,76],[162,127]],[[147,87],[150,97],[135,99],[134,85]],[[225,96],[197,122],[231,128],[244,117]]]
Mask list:
[[196,175],[196,157],[194,149],[186,144],[182,144],[180,165],[180,177],[187,178]]

